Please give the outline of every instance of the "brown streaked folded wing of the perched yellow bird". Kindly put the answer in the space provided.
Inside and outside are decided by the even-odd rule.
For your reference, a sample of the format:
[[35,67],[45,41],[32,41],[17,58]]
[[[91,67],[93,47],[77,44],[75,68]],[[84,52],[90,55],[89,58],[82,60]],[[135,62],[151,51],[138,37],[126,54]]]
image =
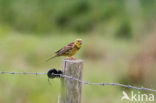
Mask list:
[[67,46],[64,46],[63,48],[61,48],[60,50],[56,51],[55,53],[57,55],[63,55],[66,54],[69,50],[71,50],[74,46],[74,42],[69,43]]

